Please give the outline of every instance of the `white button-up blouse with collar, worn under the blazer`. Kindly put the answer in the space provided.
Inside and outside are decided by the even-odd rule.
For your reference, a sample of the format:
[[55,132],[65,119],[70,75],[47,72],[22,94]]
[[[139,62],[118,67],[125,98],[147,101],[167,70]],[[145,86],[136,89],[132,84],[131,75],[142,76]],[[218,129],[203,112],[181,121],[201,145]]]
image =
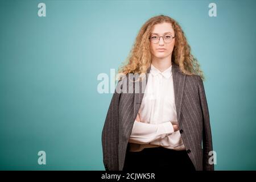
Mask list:
[[174,131],[177,113],[172,80],[172,66],[160,72],[151,64],[146,90],[139,108],[141,122],[134,121],[129,138],[130,151],[162,146],[185,150],[180,131]]

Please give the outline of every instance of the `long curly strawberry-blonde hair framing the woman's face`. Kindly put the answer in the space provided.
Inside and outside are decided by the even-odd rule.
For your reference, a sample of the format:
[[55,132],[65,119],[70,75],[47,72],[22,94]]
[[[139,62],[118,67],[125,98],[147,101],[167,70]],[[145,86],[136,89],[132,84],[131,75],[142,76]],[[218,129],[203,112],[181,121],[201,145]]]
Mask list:
[[172,63],[179,66],[181,72],[185,75],[199,75],[204,80],[203,72],[200,69],[200,64],[197,59],[191,54],[185,34],[176,20],[166,15],[154,16],[143,24],[139,30],[135,43],[129,53],[127,59],[118,68],[117,80],[121,80],[120,75],[127,73],[138,73],[139,75],[146,74],[147,69],[151,65],[150,52],[150,34],[155,24],[171,23],[175,32],[175,45],[172,51]]

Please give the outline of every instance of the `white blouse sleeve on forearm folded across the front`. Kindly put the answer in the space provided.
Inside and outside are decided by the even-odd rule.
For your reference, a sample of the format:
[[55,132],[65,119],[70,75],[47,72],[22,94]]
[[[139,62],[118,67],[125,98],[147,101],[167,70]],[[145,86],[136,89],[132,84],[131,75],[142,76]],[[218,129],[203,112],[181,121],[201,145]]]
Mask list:
[[130,143],[148,144],[154,140],[163,139],[174,133],[171,122],[151,124],[134,121],[133,129],[129,138]]

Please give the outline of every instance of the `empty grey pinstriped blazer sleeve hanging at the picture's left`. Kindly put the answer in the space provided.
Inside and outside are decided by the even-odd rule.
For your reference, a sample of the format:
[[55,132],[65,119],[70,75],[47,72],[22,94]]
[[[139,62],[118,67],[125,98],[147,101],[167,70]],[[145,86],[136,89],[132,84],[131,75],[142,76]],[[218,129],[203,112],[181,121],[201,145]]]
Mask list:
[[[120,82],[121,80],[118,81],[118,84]],[[103,163],[106,171],[118,170],[118,111],[120,96],[121,91],[117,92],[117,88],[115,88],[101,134]]]

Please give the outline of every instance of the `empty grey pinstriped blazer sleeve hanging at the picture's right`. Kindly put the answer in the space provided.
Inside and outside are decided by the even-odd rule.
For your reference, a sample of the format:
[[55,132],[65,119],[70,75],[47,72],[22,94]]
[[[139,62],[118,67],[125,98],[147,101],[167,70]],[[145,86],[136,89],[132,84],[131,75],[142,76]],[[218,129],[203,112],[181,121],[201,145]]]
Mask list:
[[209,164],[210,156],[208,155],[210,151],[213,151],[213,146],[207,98],[205,96],[203,80],[201,79],[200,76],[198,76],[198,78],[199,98],[201,110],[203,113],[203,168],[205,171],[214,171],[214,164]]

